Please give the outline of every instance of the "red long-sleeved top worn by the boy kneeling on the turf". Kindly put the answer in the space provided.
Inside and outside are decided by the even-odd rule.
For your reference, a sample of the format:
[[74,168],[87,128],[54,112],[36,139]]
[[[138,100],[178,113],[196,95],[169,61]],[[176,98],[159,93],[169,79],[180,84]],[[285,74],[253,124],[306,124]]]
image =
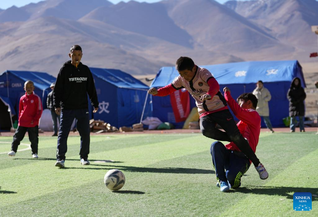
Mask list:
[[[230,92],[224,93],[227,104],[232,109],[234,115],[240,120],[237,124],[239,132],[247,139],[252,150],[256,151],[260,133],[260,116],[254,109],[244,109],[232,98]],[[234,142],[225,145],[227,149],[240,151]]]

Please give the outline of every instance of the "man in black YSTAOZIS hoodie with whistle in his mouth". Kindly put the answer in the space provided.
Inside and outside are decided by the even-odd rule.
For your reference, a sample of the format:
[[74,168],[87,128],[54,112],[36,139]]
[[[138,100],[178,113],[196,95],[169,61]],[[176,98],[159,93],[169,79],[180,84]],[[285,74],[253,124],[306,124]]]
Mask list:
[[80,62],[82,48],[79,45],[71,47],[69,56],[71,61],[63,64],[59,71],[53,90],[55,112],[61,115],[60,131],[58,136],[56,167],[64,167],[67,151],[67,137],[71,130],[74,118],[80,135],[80,163],[89,165],[90,129],[87,94],[94,107],[93,113],[98,110],[98,100],[93,76],[89,68]]

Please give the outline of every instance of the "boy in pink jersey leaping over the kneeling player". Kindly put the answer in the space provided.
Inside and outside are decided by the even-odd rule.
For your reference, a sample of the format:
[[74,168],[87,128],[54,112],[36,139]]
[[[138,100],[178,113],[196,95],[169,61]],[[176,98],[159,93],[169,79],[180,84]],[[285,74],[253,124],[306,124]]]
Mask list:
[[[176,69],[179,76],[169,85],[160,89],[151,88],[149,94],[166,96],[176,90],[185,88],[196,100],[200,115],[201,133],[211,139],[218,141],[234,142],[237,147],[250,159],[261,179],[266,179],[268,173],[259,162],[248,142],[240,134],[233,116],[227,108],[224,96],[221,94],[218,82],[211,72],[194,64],[189,57],[181,56],[176,61]],[[225,132],[216,128],[219,124]]]

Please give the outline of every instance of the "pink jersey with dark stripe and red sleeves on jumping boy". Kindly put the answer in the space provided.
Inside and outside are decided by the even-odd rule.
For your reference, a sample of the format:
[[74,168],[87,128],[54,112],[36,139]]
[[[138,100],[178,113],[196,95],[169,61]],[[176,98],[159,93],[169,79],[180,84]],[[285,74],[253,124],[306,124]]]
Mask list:
[[[225,98],[219,90],[218,82],[207,69],[197,67],[190,82],[179,75],[171,84],[158,89],[156,96],[166,96],[182,88],[187,89],[196,100],[200,118],[213,112],[228,109]],[[204,94],[211,95],[211,99],[202,101],[200,97]]]

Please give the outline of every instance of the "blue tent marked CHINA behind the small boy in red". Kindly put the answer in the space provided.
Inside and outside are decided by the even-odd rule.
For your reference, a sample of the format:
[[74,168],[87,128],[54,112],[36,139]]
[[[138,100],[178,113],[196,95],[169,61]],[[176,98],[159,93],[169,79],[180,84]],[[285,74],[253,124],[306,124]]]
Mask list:
[[41,97],[43,108],[46,108],[47,94],[51,92],[50,85],[56,78],[45,72],[7,70],[0,75],[0,95],[10,99],[13,110],[19,113],[19,100],[25,94],[24,82],[31,80],[34,83],[35,94]]

